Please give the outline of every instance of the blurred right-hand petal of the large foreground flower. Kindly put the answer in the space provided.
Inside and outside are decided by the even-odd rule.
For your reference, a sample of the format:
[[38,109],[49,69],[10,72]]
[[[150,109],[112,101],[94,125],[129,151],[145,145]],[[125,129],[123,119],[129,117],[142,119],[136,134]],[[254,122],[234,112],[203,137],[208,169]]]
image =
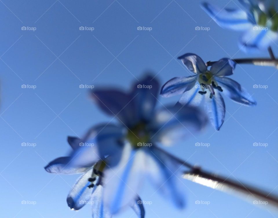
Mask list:
[[206,115],[198,108],[177,104],[157,110],[148,128],[151,141],[169,145],[200,131],[206,123]]

